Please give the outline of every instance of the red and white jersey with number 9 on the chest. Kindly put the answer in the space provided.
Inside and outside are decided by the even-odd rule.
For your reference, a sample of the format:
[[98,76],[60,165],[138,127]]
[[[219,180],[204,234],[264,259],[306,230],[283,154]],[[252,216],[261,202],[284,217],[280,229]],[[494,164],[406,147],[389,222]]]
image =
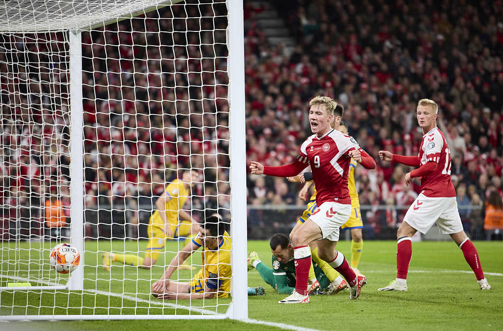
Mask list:
[[313,134],[300,146],[297,159],[311,165],[318,206],[326,201],[351,204],[348,190],[349,152],[359,148],[353,137],[333,129],[321,138]]

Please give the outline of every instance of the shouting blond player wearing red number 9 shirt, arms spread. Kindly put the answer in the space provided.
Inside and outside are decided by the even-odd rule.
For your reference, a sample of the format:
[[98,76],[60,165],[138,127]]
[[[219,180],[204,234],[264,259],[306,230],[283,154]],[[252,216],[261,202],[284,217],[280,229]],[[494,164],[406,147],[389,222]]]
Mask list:
[[[250,164],[251,174],[292,177],[299,174],[307,164],[311,165],[313,181],[316,185],[316,205],[311,214],[292,237],[294,244],[295,291],[279,303],[308,303],[307,283],[311,252],[308,244],[318,240],[318,255],[336,269],[350,285],[350,299],[356,299],[366,283],[364,276],[358,276],[335,249],[339,240],[339,228],[351,215],[351,198],[348,190],[348,176],[351,158],[367,169],[374,169],[376,163],[355,139],[330,127],[333,111],[337,103],[328,97],[315,97],[309,102],[309,123],[314,133],[300,147],[300,155],[292,164],[281,167],[264,167],[259,162]],[[336,114],[337,125],[342,114]]]

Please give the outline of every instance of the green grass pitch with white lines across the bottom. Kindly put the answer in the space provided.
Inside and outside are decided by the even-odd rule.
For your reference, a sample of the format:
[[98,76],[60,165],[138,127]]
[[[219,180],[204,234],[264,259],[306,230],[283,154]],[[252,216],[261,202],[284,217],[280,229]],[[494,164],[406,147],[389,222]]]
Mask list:
[[[144,247],[144,242],[126,242],[123,241],[103,241],[97,247],[96,243],[86,243],[90,251],[108,251],[113,246],[115,251],[135,251]],[[3,246],[3,270],[7,270],[6,264],[11,264],[14,268],[16,261],[9,260],[6,252],[6,244]],[[27,243],[21,245],[28,247]],[[44,250],[36,249],[32,243],[32,250],[18,250],[19,261],[17,276],[28,277],[27,261],[28,253],[32,259],[43,257],[42,261],[48,264],[48,250],[53,246],[52,243],[42,243]],[[169,251],[176,250],[176,242],[172,242],[167,247]],[[503,248],[499,241],[478,241],[475,242],[480,255],[482,267],[486,273],[503,273]],[[99,250],[98,250],[99,248]],[[341,241],[338,244],[339,250],[350,256],[350,242]],[[400,329],[406,325],[407,329],[502,329],[503,328],[503,277],[487,275],[487,279],[493,290],[480,291],[475,282],[475,276],[472,273],[459,273],[456,271],[470,271],[461,251],[451,241],[441,242],[414,242],[412,243],[413,255],[408,275],[407,292],[378,292],[377,288],[383,287],[396,276],[395,253],[396,241],[365,241],[364,252],[359,269],[367,276],[368,285],[362,290],[359,300],[350,301],[349,293],[342,292],[335,296],[312,296],[311,303],[308,305],[279,305],[277,302],[283,299],[285,295],[279,295],[267,285],[257,271],[248,272],[248,286],[264,286],[266,288],[265,296],[249,297],[249,317],[286,323],[290,325],[303,326],[314,329],[336,329],[344,327],[345,329]],[[257,251],[263,262],[271,266],[271,253],[267,241],[248,241],[248,250]],[[10,251],[10,253],[13,253]],[[86,267],[85,284],[86,289],[93,289],[103,292],[125,293],[128,296],[137,297],[145,300],[144,302],[135,302],[121,297],[114,297],[105,294],[96,294],[92,292],[71,293],[67,291],[16,291],[13,297],[13,291],[2,291],[0,295],[0,313],[13,314],[28,312],[30,314],[39,314],[39,306],[42,303],[43,313],[95,313],[106,314],[159,314],[175,313],[174,307],[159,305],[160,302],[151,299],[148,295],[148,289],[151,281],[160,277],[165,261],[169,263],[173,257],[172,253],[161,255],[158,266],[151,271],[141,270],[128,266],[114,265],[111,272],[105,272],[102,267]],[[14,258],[11,254],[11,258]],[[193,263],[200,264],[200,254],[193,255]],[[85,257],[86,265],[101,265],[101,253],[87,253]],[[30,281],[32,285],[37,277],[43,279],[54,279],[61,277],[51,272],[48,265],[44,266],[45,271],[38,272],[40,267],[32,264],[30,269]],[[199,267],[198,267],[199,269]],[[34,275],[35,271],[36,274]],[[194,271],[180,271],[179,277],[188,279]],[[176,277],[176,275],[174,275]],[[64,278],[64,277],[63,277]],[[138,280],[143,279],[143,280]],[[2,286],[8,281],[7,278],[0,279]],[[64,282],[63,282],[64,283]],[[100,292],[101,293],[101,292]],[[96,301],[95,301],[96,300]],[[148,300],[148,301],[147,301]],[[224,312],[230,299],[195,300],[193,306],[198,306],[207,310]],[[172,304],[185,304],[188,301],[166,301]],[[218,305],[218,307],[217,307]],[[57,306],[57,308],[54,308]],[[101,306],[104,308],[91,308]],[[13,308],[14,307],[14,308]],[[70,307],[67,309],[67,307]],[[82,308],[89,307],[89,308]],[[176,308],[177,314],[187,314],[188,311]],[[191,314],[198,314],[191,312]],[[153,317],[153,316],[152,316]],[[77,324],[78,323],[78,324]],[[139,323],[139,324],[135,324]],[[170,325],[177,327],[207,327],[211,323],[212,327],[225,327],[227,329],[267,329],[265,325],[243,324],[226,320],[214,321],[153,321],[145,322],[148,327],[158,325]],[[20,323],[19,325],[30,329],[63,329],[78,325],[79,329],[98,329],[108,328],[129,329],[138,325],[135,329],[145,325],[140,321],[79,321],[79,322],[37,322]],[[178,324],[181,323],[181,324]],[[10,325],[15,326],[18,323]],[[61,328],[59,328],[61,327]],[[132,328],[131,328],[132,329]],[[273,328],[271,328],[273,329]]]

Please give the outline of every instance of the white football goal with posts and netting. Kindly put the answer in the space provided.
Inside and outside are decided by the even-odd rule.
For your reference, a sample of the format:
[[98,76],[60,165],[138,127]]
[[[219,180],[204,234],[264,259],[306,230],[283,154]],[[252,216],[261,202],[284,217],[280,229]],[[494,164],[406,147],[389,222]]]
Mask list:
[[0,320],[247,318],[242,48],[234,1],[0,9]]

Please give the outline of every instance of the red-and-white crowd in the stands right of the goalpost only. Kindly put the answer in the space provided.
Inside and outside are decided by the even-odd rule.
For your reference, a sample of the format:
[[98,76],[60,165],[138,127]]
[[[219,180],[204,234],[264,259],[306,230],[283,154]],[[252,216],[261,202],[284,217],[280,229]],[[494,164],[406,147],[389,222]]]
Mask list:
[[[385,149],[417,154],[422,132],[416,102],[435,100],[448,135],[452,179],[465,230],[481,238],[483,205],[501,196],[503,165],[503,5],[439,2],[278,1],[277,12],[295,37],[289,50],[268,43],[247,8],[245,77],[248,160],[285,164],[310,134],[307,104],[326,95],[346,107],[350,134],[377,159]],[[406,167],[379,161],[357,169],[361,204],[408,207],[420,182],[403,183]],[[304,205],[296,185],[248,178],[249,203]],[[406,210],[371,208],[368,234],[393,229]],[[260,220],[257,216],[249,222]],[[292,219],[294,222],[295,219]],[[259,221],[260,222],[260,221]]]

